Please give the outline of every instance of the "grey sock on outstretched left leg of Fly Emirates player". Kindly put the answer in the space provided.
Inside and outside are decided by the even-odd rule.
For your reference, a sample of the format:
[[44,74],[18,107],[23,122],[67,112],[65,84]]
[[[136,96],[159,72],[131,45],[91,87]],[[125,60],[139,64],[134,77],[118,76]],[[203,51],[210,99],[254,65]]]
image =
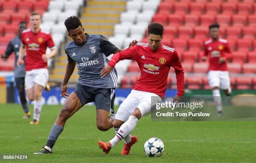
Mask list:
[[46,146],[52,149],[62,131],[63,127],[61,125],[54,124],[51,128]]

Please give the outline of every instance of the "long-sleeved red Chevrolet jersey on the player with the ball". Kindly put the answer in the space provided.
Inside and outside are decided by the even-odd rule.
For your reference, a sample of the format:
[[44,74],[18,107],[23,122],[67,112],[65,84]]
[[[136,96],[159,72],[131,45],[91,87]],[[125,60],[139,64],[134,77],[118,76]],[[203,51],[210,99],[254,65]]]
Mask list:
[[152,51],[148,43],[137,43],[131,48],[114,54],[108,65],[113,68],[118,61],[124,59],[135,60],[141,69],[141,76],[133,89],[164,97],[167,77],[172,66],[176,73],[177,95],[183,96],[184,71],[178,53],[174,48],[161,44],[156,51]]

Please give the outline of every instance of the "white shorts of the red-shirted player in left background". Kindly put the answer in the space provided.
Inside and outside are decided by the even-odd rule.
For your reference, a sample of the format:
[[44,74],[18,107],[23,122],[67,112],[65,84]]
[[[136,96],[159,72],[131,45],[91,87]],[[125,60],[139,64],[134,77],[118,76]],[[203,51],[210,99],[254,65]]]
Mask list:
[[39,84],[45,88],[49,79],[48,69],[34,69],[26,71],[25,76],[25,89],[30,89]]

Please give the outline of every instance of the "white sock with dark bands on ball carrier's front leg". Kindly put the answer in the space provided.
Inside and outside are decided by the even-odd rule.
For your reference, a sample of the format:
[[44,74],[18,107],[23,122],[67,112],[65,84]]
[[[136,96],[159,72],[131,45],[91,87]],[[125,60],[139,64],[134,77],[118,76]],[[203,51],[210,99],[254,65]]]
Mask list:
[[111,143],[111,147],[113,147],[115,144],[117,144],[118,142],[123,140],[123,138],[127,137],[128,135],[130,135],[130,133],[135,128],[137,122],[138,122],[138,119],[135,116],[130,115],[128,120],[123,125],[121,125],[121,127],[119,128],[119,130],[116,133],[115,137],[112,140],[109,141]]

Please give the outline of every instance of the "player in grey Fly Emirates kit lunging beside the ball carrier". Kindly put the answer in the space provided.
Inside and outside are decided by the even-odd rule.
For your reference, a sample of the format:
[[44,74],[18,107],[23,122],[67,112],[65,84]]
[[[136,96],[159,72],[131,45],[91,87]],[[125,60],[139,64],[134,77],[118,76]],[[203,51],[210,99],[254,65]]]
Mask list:
[[[67,101],[51,128],[46,146],[34,154],[52,153],[52,148],[67,119],[89,102],[95,102],[97,128],[107,131],[113,127],[115,115],[109,116],[109,112],[115,94],[117,72],[112,69],[103,79],[100,72],[109,62],[107,57],[121,50],[102,35],[84,33],[82,23],[76,16],[67,18],[64,24],[69,37],[73,40],[65,47],[68,63],[61,86],[61,96],[67,98]],[[132,45],[130,43],[129,46]],[[67,83],[76,65],[79,79],[74,91],[69,94]]]

